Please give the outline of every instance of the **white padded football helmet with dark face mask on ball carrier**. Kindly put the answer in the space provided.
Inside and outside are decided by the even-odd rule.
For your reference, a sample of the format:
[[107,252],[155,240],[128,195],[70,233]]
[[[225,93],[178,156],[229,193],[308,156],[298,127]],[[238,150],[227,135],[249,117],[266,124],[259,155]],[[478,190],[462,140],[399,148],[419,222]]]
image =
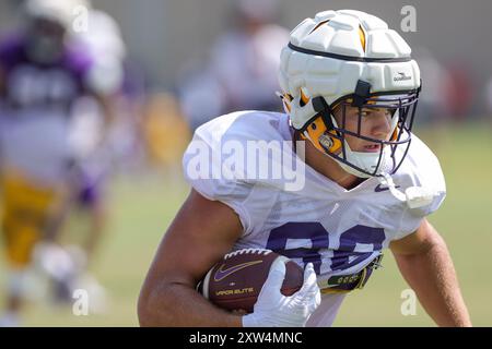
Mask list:
[[[393,174],[410,145],[421,86],[419,65],[410,53],[397,32],[361,11],[326,11],[304,20],[291,32],[279,71],[292,127],[349,173]],[[347,106],[359,108],[356,132],[345,129]],[[341,124],[336,121],[336,108],[342,110]],[[361,134],[362,108],[390,110],[389,141]],[[379,145],[379,152],[354,152],[347,135]],[[399,146],[403,151],[397,159]]]

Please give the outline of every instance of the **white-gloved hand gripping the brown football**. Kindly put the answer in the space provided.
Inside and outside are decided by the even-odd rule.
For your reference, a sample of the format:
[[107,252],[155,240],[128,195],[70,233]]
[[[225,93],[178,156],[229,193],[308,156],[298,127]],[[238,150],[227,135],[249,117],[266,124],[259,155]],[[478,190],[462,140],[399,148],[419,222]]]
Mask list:
[[302,288],[290,297],[280,289],[285,277],[285,263],[273,262],[268,278],[261,288],[254,312],[243,316],[244,327],[302,327],[321,302],[312,263],[304,270]]

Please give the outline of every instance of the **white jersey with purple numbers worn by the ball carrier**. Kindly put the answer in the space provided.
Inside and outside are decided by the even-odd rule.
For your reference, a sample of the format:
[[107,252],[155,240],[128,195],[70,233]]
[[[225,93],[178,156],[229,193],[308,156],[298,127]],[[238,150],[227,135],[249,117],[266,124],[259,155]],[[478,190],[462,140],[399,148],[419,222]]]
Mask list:
[[[282,180],[197,178],[190,174],[200,143],[210,153],[211,170],[221,168],[223,145],[235,141],[247,148],[250,141],[292,141],[289,118],[283,113],[242,111],[226,115],[197,129],[184,156],[185,177],[204,197],[221,201],[238,215],[244,231],[234,249],[263,248],[286,255],[301,266],[312,262],[318,281],[333,275],[361,270],[382,253],[393,240],[417,230],[422,219],[436,210],[445,197],[444,177],[434,154],[412,135],[405,161],[393,174],[397,188],[419,185],[434,189],[436,195],[427,206],[410,209],[397,200],[376,178],[345,190],[305,165],[301,190],[286,191]],[[296,154],[288,151],[292,158]],[[271,152],[262,153],[263,157]],[[244,156],[243,156],[244,157]],[[260,158],[263,160],[271,159]],[[196,173],[195,173],[196,174]],[[207,177],[207,176],[202,176]],[[333,296],[333,294],[329,294]]]

